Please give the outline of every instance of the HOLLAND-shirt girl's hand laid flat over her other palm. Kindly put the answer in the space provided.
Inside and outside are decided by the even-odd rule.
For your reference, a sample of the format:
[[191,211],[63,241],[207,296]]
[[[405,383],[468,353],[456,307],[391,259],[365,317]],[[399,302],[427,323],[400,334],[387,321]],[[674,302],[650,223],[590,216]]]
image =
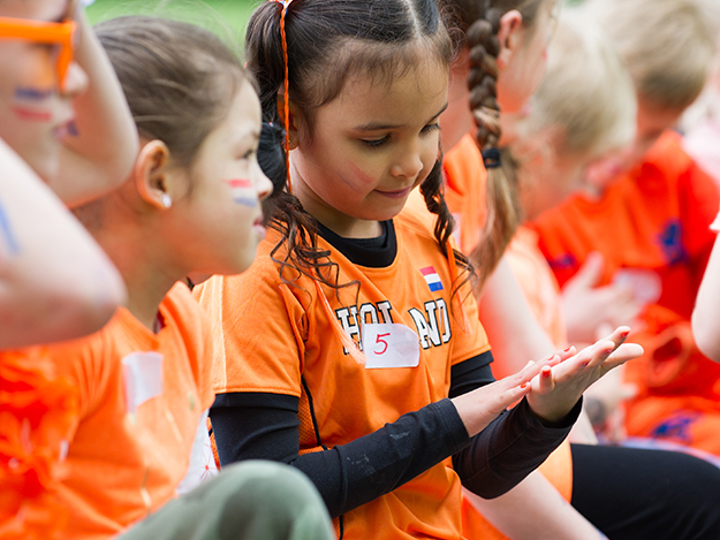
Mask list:
[[552,369],[568,357],[566,351],[540,362],[528,362],[514,375],[453,398],[452,402],[465,424],[468,435],[470,437],[477,435],[506,408],[528,395],[531,381],[537,378],[541,369]]

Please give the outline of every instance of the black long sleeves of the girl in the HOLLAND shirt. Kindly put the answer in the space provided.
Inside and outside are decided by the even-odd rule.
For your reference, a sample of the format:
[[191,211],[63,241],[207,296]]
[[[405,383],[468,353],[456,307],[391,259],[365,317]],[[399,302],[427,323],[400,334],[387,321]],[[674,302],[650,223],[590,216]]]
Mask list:
[[[493,382],[487,362],[483,355],[454,366],[450,396]],[[296,397],[220,394],[210,417],[221,464],[271,459],[297,467],[318,488],[330,515],[337,517],[449,456],[465,487],[485,498],[502,495],[562,442],[579,411],[580,403],[563,422],[548,427],[523,400],[470,438],[455,406],[444,399],[350,443],[304,455],[299,454]]]

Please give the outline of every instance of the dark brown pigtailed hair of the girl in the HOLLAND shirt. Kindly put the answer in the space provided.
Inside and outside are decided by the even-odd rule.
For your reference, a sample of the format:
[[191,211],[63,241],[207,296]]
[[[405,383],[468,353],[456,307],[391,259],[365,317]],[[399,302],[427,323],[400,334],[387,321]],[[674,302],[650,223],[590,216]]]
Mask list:
[[[278,101],[284,99],[282,9],[278,2],[260,5],[245,42],[264,119],[274,123],[281,123]],[[310,123],[313,110],[332,101],[353,73],[362,71],[389,83],[411,69],[421,55],[434,55],[448,66],[453,56],[435,0],[295,0],[288,7],[286,32],[291,100]],[[428,209],[438,216],[435,237],[447,255],[453,220],[443,197],[440,160],[420,190]],[[337,265],[329,261],[329,252],[318,249],[316,222],[300,201],[285,191],[276,192],[266,209],[270,226],[284,237],[273,251],[281,276],[291,268],[295,276],[308,274],[339,288]],[[455,257],[461,268],[469,270],[464,255],[455,252]]]

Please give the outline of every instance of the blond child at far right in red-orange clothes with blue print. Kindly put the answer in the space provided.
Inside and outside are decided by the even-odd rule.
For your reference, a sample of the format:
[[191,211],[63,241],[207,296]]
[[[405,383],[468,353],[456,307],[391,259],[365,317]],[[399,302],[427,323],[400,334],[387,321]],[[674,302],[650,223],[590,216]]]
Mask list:
[[594,175],[591,193],[544,214],[536,228],[561,286],[597,251],[605,258],[601,284],[625,281],[647,304],[638,334],[647,351],[627,369],[640,390],[627,408],[628,434],[720,455],[720,368],[699,352],[690,330],[718,192],[669,130],[702,90],[713,56],[701,5],[589,4],[633,76],[637,136],[629,152],[609,161],[612,174]]

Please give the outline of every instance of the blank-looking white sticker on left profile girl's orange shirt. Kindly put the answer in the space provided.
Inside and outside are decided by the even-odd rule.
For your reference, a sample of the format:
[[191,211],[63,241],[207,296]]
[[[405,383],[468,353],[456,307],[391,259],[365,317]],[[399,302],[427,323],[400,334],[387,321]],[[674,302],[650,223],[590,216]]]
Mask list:
[[135,352],[122,359],[125,404],[129,414],[146,401],[162,394],[163,355]]

